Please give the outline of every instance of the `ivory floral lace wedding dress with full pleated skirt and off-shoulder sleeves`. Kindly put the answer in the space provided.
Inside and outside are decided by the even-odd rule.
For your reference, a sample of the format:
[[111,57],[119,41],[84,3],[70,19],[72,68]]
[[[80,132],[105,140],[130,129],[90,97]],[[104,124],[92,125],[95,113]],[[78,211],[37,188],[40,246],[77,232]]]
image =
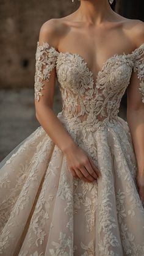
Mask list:
[[82,56],[48,42],[37,42],[35,57],[35,100],[56,68],[63,103],[57,117],[102,177],[73,177],[65,155],[38,127],[1,162],[0,254],[144,255],[137,161],[128,123],[118,116],[132,71],[144,103],[144,43],[107,59],[96,78]]

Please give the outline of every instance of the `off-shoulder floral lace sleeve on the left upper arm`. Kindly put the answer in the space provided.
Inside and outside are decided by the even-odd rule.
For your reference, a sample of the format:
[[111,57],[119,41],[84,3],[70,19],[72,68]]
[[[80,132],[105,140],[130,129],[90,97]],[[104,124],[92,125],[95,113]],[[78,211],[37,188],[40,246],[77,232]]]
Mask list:
[[37,101],[43,95],[41,90],[43,90],[44,85],[48,84],[51,71],[56,67],[58,54],[59,52],[53,46],[50,46],[48,42],[43,42],[41,45],[37,42],[34,83],[35,100]]

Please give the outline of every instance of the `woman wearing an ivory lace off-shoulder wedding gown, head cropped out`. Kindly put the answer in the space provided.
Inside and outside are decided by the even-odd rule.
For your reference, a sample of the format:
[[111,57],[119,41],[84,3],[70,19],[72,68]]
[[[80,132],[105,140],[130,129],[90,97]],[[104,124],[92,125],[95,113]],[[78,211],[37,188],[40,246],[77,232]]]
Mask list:
[[1,163],[2,255],[144,255],[143,27],[108,0],[81,0],[41,26],[41,126]]

